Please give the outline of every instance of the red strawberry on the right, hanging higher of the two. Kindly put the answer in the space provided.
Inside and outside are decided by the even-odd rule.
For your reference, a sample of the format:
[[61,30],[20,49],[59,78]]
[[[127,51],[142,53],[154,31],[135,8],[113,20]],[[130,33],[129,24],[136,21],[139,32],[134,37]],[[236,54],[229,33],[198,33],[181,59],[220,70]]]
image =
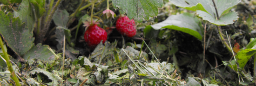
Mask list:
[[127,16],[120,17],[116,21],[116,30],[124,36],[133,37],[136,35],[135,21]]

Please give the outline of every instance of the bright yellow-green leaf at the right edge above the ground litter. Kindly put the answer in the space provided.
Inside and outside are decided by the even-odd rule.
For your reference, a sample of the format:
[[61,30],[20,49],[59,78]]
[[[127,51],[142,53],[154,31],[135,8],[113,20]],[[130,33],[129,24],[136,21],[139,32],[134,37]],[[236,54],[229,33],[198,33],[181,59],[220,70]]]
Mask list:
[[236,60],[239,63],[239,67],[243,69],[245,64],[249,61],[252,55],[256,53],[256,49],[244,49],[236,54]]

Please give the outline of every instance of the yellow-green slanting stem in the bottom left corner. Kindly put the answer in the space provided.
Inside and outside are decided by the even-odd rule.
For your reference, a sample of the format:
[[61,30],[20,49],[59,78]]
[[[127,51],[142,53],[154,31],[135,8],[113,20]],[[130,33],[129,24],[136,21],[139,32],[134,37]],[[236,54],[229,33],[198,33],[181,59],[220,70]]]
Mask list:
[[13,65],[12,65],[12,63],[10,61],[10,58],[9,58],[9,56],[7,54],[7,49],[6,49],[6,47],[4,47],[4,43],[3,43],[1,37],[0,37],[0,46],[1,46],[1,49],[2,49],[2,51],[4,53],[4,59],[6,60],[7,67],[9,69],[10,73],[12,74],[12,79],[14,80],[16,86],[20,86],[20,81],[18,80],[18,78],[17,78],[17,76],[15,74],[15,71],[13,70],[13,67],[12,67]]

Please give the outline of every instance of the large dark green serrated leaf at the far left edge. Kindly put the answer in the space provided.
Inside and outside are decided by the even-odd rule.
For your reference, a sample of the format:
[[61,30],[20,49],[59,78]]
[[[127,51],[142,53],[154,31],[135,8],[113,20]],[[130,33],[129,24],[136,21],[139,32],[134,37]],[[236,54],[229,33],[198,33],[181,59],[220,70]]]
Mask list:
[[0,11],[0,19],[0,33],[16,55],[22,56],[33,47],[33,33],[25,28],[20,18],[13,18],[10,12],[6,15]]

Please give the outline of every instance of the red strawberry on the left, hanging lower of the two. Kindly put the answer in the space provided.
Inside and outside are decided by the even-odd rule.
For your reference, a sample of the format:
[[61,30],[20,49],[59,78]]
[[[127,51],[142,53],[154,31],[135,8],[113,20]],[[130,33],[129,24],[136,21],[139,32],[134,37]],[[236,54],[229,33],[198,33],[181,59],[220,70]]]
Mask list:
[[84,40],[90,48],[95,48],[101,40],[105,43],[107,38],[107,32],[96,24],[90,25],[84,33]]

